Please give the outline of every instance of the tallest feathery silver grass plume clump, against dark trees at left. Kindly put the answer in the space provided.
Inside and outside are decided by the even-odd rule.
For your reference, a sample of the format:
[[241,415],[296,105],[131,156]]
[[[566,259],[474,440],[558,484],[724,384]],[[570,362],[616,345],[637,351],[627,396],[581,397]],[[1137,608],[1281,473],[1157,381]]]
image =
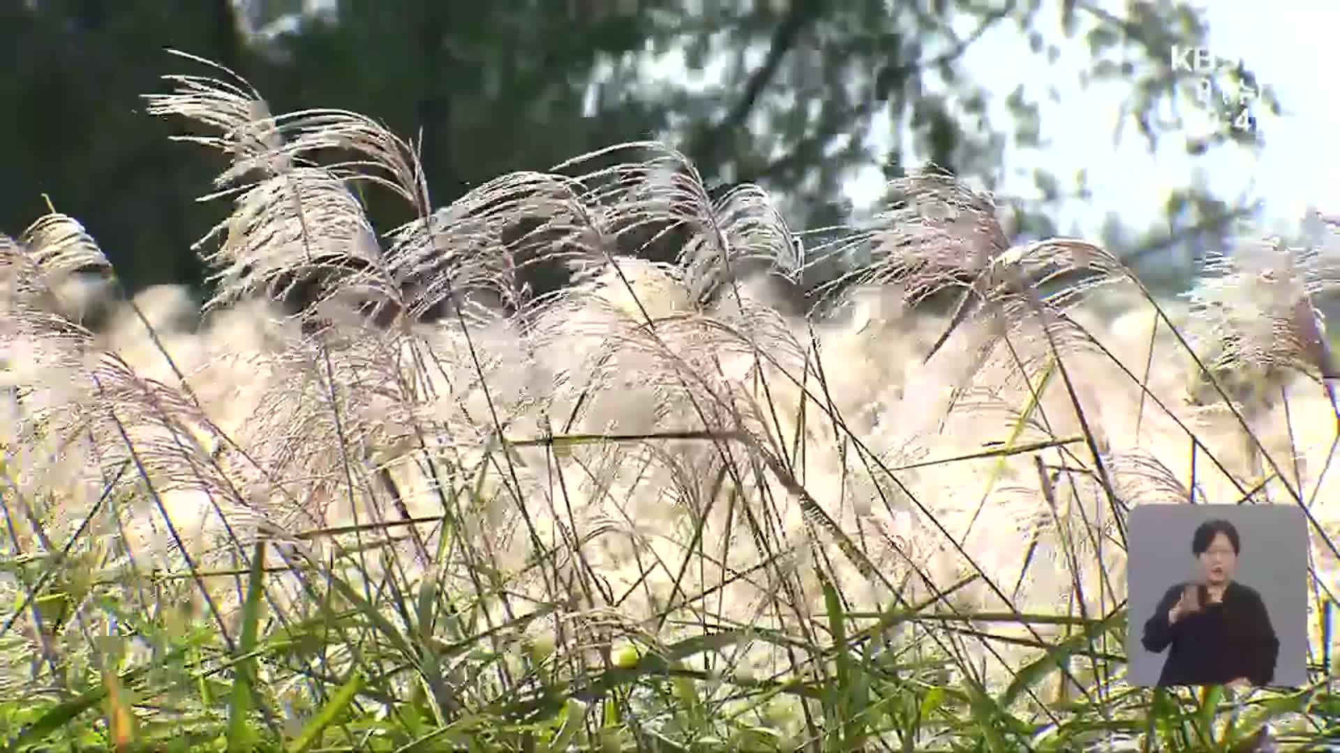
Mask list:
[[[153,115],[185,117],[221,131],[176,138],[232,157],[232,166],[216,180],[222,190],[214,196],[233,196],[236,208],[196,247],[222,236],[218,248],[204,255],[218,269],[205,308],[256,292],[284,299],[299,285],[316,288],[299,301],[304,316],[340,293],[373,305],[399,304],[399,289],[351,184],[390,188],[425,216],[426,188],[409,145],[352,113],[272,117],[264,99],[232,71],[185,56],[232,79],[166,76],[177,91],[146,98]],[[330,151],[354,157],[331,165],[315,161]]]

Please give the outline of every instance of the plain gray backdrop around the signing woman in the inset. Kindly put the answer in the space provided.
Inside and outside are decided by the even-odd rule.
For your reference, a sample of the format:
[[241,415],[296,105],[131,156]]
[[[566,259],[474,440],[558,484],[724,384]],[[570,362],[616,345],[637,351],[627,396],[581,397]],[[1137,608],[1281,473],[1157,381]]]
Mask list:
[[1140,644],[1144,620],[1159,598],[1178,581],[1198,577],[1191,556],[1195,527],[1213,519],[1238,529],[1242,552],[1233,579],[1261,594],[1280,638],[1274,666],[1277,686],[1308,681],[1308,523],[1286,505],[1136,505],[1127,516],[1127,596],[1130,623],[1126,653],[1131,685],[1152,687],[1167,651],[1151,654]]

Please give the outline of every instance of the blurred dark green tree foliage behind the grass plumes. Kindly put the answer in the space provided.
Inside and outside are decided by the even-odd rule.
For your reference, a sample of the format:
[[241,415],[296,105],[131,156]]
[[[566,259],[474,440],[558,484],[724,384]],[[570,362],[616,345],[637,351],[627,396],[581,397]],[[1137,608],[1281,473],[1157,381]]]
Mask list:
[[[1181,122],[1156,113],[1190,86],[1168,51],[1203,38],[1197,13],[1175,0],[1131,1],[1122,15],[1103,8],[1097,0],[0,0],[0,228],[20,230],[44,212],[47,194],[99,238],[131,289],[200,283],[189,247],[226,208],[194,200],[209,190],[217,155],[170,142],[185,126],[143,114],[139,95],[162,91],[162,74],[202,72],[184,71],[189,64],[169,47],[234,70],[276,111],[343,107],[419,135],[438,205],[501,173],[662,138],[709,185],[760,182],[779,192],[795,225],[820,226],[850,218],[840,186],[860,167],[896,177],[907,162],[933,159],[993,188],[1006,143],[1045,147],[1022,86],[1005,99],[1010,121],[992,122],[992,94],[958,64],[997,25],[1017,31],[1018,55],[1053,60],[1059,39],[1048,29],[1083,35],[1092,51],[1085,75],[1128,82],[1126,111],[1143,137],[1177,133]],[[687,75],[649,64],[673,54]],[[892,129],[887,143],[898,149],[876,153],[872,127]],[[1231,138],[1245,137],[1209,134],[1189,149]],[[913,153],[902,154],[907,143]],[[1020,205],[1020,230],[1055,232],[1048,208],[1069,189],[1055,176],[1036,181],[1041,198]],[[383,226],[405,218],[371,209]],[[1170,205],[1170,221],[1194,228],[1225,212],[1193,190]]]

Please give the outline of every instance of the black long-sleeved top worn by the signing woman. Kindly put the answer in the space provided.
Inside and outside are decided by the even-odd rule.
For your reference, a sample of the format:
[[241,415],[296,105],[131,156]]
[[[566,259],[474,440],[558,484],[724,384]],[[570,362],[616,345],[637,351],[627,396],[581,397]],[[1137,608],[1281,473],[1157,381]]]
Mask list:
[[1223,685],[1240,677],[1252,685],[1274,679],[1280,639],[1270,626],[1261,595],[1250,586],[1229,581],[1223,599],[1207,603],[1199,587],[1201,611],[1168,624],[1168,610],[1182,598],[1185,583],[1168,588],[1144,623],[1142,643],[1159,653],[1168,646],[1159,685]]

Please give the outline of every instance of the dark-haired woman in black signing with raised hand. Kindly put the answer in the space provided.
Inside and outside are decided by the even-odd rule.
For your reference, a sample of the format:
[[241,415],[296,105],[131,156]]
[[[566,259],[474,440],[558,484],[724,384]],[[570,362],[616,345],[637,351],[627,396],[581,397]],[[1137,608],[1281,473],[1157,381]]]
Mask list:
[[1226,520],[1202,523],[1191,553],[1203,580],[1168,588],[1144,623],[1142,643],[1152,653],[1168,646],[1159,686],[1269,685],[1280,639],[1254,588],[1233,580],[1242,541]]

